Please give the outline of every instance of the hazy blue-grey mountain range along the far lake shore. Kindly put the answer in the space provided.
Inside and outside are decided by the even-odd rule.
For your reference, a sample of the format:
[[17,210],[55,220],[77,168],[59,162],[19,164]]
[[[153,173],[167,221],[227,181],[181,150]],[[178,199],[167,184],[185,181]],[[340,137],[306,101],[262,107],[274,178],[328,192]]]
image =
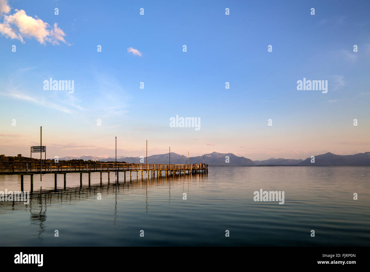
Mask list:
[[[252,161],[245,157],[238,157],[232,153],[212,152],[198,157],[190,157],[190,164],[204,162],[209,166],[266,166],[266,165],[290,165],[290,166],[370,166],[370,152],[358,153],[354,155],[336,155],[330,152],[314,156],[314,163],[311,158],[303,159],[283,159],[270,158],[264,161]],[[64,157],[59,160],[83,159],[84,161],[115,161],[115,157]],[[168,164],[169,153],[151,155],[148,157],[148,164]],[[140,161],[141,160],[141,161]],[[188,163],[188,157],[171,152],[171,164]],[[117,162],[146,163],[146,158],[117,156]]]

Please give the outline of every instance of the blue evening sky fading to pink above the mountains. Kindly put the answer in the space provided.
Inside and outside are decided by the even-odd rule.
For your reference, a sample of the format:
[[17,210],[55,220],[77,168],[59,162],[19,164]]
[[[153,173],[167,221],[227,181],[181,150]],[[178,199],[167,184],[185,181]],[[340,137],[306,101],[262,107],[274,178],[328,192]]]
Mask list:
[[[124,156],[144,155],[146,140],[148,155],[168,146],[251,159],[370,151],[369,1],[1,6],[1,154],[29,154],[40,126],[50,157],[111,156],[115,136]],[[33,20],[47,25],[28,27]],[[50,77],[74,80],[74,93],[44,90]],[[327,80],[328,92],[298,91],[303,78]],[[199,117],[201,129],[169,127],[176,115]]]

